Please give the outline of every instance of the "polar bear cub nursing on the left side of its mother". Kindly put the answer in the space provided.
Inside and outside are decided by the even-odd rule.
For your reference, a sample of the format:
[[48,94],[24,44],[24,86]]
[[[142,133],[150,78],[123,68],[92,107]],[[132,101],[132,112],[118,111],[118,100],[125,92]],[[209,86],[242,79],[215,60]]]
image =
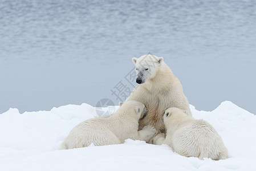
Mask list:
[[147,126],[138,132],[139,119],[146,114],[144,104],[129,101],[109,117],[97,117],[77,125],[63,141],[62,149],[82,148],[92,143],[121,144],[126,139],[148,141],[156,133],[155,128]]

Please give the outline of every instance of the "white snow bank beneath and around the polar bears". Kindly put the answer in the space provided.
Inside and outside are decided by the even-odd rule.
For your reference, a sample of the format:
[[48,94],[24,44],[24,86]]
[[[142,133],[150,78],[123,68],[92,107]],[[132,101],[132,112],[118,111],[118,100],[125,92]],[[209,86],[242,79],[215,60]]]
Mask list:
[[[115,109],[118,107],[116,106]],[[103,112],[109,108],[101,109]],[[255,170],[256,116],[224,101],[212,112],[197,111],[216,128],[229,149],[229,158],[214,161],[183,157],[167,145],[126,140],[124,144],[60,150],[75,125],[97,116],[91,105],[66,105],[51,111],[0,115],[0,170]],[[106,116],[106,115],[105,115]]]

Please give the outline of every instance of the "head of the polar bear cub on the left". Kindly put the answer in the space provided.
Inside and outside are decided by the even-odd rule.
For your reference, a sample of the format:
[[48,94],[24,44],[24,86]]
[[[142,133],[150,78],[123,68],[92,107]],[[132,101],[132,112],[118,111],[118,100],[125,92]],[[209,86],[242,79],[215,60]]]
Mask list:
[[137,120],[144,118],[148,113],[145,105],[136,100],[125,101],[120,108],[125,109],[128,115],[132,115]]

